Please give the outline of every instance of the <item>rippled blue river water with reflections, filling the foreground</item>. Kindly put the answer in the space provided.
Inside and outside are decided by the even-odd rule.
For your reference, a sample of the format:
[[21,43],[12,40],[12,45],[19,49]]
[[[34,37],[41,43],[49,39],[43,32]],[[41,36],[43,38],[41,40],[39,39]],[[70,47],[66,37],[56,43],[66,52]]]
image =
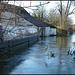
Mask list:
[[[75,42],[75,35],[46,37],[22,53],[6,59],[0,73],[7,74],[75,74],[75,59],[67,50]],[[45,48],[48,46],[48,49]],[[55,57],[50,56],[55,53]]]

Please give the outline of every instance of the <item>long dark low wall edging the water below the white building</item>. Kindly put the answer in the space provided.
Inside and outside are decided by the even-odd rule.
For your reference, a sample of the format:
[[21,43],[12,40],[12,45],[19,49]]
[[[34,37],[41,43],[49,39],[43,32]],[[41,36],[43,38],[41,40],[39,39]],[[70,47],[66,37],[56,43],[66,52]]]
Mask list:
[[33,36],[0,43],[0,58],[8,58],[13,54],[25,50],[25,48],[31,46],[38,40],[39,36]]

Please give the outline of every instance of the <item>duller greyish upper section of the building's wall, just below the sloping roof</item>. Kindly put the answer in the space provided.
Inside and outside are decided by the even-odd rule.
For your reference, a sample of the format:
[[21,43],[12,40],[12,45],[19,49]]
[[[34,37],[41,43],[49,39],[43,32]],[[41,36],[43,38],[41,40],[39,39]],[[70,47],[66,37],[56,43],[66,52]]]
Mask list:
[[[17,14],[14,14],[14,13],[11,13],[11,12],[2,12],[2,18],[5,18],[5,19],[2,19],[2,23],[4,23],[4,25],[7,25],[8,21],[9,21],[9,18],[12,18],[13,20],[10,20],[8,25],[16,25],[16,26],[28,26],[28,25],[32,25],[32,26],[35,26],[34,24],[32,24],[31,22],[25,20],[24,18],[20,17],[19,15]],[[8,20],[6,20],[8,19]],[[16,22],[15,22],[15,19],[16,19]]]

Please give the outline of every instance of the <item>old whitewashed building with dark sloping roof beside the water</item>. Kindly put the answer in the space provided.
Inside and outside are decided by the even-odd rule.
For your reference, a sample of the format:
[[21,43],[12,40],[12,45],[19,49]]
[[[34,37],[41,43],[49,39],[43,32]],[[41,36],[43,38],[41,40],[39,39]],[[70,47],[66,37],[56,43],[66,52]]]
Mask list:
[[23,7],[5,3],[0,3],[0,6],[2,6],[1,24],[6,29],[5,39],[11,40],[14,37],[33,33],[38,33],[40,36],[56,35],[56,28],[34,18]]

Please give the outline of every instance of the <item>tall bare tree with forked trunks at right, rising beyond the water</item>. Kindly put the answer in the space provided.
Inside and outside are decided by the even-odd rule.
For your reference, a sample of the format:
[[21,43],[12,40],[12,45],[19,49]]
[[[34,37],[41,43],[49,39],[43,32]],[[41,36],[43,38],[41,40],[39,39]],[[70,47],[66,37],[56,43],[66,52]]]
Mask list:
[[[60,12],[60,28],[61,29],[63,28],[62,27],[62,16],[65,15],[65,21],[64,22],[66,22],[66,24],[65,24],[65,29],[66,29],[67,26],[68,26],[68,17],[69,17],[69,15],[75,14],[75,8],[70,11],[70,8],[71,8],[71,6],[73,6],[73,3],[74,3],[74,1],[68,0],[67,5],[65,6],[65,9],[64,9],[63,5],[62,5],[62,0],[60,0],[59,12]],[[65,10],[64,14],[62,14],[63,11],[64,11],[63,9]]]

